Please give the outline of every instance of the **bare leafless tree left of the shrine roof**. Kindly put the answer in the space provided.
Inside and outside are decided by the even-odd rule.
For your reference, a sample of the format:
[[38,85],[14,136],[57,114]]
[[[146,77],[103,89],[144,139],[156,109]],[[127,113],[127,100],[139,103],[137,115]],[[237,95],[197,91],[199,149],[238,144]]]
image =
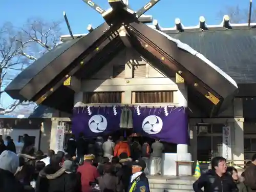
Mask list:
[[[40,18],[28,19],[17,30],[11,23],[0,27],[0,97],[18,73],[59,43],[60,22],[46,22]],[[32,102],[15,100],[0,115],[12,113],[18,106]]]

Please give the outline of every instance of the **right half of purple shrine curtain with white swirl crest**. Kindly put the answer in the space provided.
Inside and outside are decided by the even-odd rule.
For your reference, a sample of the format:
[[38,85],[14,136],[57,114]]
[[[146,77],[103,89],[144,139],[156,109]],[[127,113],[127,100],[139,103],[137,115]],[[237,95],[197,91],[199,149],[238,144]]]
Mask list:
[[133,113],[134,132],[161,141],[188,144],[186,108],[137,108]]

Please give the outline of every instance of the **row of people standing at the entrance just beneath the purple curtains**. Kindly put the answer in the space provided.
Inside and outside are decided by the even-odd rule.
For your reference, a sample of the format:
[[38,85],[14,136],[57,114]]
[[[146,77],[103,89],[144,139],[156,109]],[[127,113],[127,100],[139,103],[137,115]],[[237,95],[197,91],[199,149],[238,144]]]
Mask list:
[[119,157],[121,153],[126,153],[133,160],[141,158],[145,161],[145,174],[149,172],[147,165],[152,157],[154,160],[155,175],[161,175],[164,145],[159,140],[155,140],[152,145],[146,140],[140,143],[137,138],[129,137],[126,140],[122,136],[116,142],[113,142],[111,136],[106,141],[102,137],[97,137],[95,140],[88,140],[81,133],[77,140],[75,140],[74,136],[71,136],[65,148],[71,157],[76,154],[80,163],[83,163],[83,156],[86,154],[93,154],[96,160],[101,162],[102,158],[111,159],[112,157]]

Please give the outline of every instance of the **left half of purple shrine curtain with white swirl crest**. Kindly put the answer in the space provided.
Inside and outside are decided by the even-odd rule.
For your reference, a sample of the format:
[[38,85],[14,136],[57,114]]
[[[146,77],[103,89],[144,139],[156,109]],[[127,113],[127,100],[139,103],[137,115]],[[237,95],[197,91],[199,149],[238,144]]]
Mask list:
[[120,107],[79,107],[74,108],[72,118],[72,133],[78,137],[109,135],[119,130]]

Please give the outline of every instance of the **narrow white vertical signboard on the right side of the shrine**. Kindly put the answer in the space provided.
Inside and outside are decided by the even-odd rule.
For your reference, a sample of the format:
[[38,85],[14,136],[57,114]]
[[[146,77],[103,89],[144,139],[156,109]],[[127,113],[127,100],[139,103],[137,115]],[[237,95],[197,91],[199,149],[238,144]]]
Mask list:
[[231,129],[230,126],[223,126],[222,129],[222,157],[232,159],[231,154]]

